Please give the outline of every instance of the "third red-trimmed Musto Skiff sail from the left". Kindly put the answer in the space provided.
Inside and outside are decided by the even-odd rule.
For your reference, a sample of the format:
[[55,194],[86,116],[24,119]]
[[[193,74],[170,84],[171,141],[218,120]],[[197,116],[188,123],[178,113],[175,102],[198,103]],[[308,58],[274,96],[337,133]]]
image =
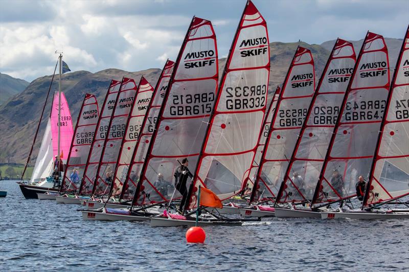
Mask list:
[[135,81],[123,78],[102,148],[93,195],[109,193],[113,174],[117,166],[122,138],[125,135],[126,122],[136,96],[137,84],[135,84]]

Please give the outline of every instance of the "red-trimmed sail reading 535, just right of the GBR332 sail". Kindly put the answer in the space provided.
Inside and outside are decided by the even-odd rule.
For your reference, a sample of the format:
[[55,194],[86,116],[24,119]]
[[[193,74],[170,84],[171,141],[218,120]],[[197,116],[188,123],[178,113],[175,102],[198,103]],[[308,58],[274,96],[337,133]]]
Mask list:
[[299,46],[291,61],[264,147],[252,199],[277,195],[315,89],[311,52]]

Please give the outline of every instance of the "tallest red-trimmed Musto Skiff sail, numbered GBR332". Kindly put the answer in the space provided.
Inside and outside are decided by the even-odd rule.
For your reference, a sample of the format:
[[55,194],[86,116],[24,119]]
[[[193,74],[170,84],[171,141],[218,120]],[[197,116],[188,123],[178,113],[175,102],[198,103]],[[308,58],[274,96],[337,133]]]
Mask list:
[[[241,191],[254,161],[266,110],[269,54],[267,23],[248,1],[195,172],[194,186],[205,186],[221,200]],[[190,206],[196,202],[194,195]]]

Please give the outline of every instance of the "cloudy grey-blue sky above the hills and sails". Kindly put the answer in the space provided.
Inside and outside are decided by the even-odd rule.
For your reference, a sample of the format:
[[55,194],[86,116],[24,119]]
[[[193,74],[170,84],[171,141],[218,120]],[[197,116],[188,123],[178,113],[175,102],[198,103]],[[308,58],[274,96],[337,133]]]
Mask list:
[[[409,1],[261,1],[270,41],[320,44],[359,40],[370,30],[402,38]],[[162,68],[174,59],[193,15],[213,22],[226,56],[245,0],[0,1],[0,72],[32,81],[53,72],[57,55],[71,70]]]

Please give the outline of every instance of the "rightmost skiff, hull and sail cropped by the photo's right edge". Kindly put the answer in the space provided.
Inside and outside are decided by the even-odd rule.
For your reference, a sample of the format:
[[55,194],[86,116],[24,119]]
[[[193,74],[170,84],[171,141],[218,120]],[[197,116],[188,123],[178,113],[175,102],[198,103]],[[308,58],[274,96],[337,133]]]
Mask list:
[[379,209],[409,195],[409,27],[398,56],[360,210],[322,212],[321,218],[409,218],[409,208]]

